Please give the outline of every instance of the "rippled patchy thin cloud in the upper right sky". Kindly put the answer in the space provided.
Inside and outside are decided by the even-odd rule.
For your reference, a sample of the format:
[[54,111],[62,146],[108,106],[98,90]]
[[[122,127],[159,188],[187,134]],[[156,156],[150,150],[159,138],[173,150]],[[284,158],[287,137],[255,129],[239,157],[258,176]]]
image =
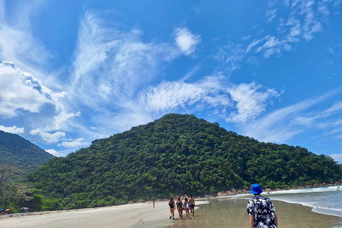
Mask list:
[[[279,1],[269,0],[266,11],[266,22],[274,24],[276,30],[267,33],[261,28],[254,34],[242,37],[240,41],[231,42],[213,57],[221,64],[221,71],[232,73],[242,63],[257,63],[271,56],[293,50],[293,46],[301,41],[309,41],[314,34],[321,32],[330,14],[329,9],[336,4],[335,1]],[[278,10],[287,12],[277,18]],[[252,38],[252,42],[249,41]],[[330,53],[336,53],[335,48],[328,48]],[[262,57],[262,58],[260,58]]]

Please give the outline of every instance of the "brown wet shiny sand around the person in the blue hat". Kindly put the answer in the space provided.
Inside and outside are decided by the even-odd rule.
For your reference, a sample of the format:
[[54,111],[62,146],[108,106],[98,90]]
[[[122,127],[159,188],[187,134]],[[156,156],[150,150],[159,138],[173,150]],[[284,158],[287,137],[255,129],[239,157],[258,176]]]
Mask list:
[[[311,207],[272,200],[276,208],[278,226],[286,228],[342,227],[342,218],[311,212]],[[167,228],[249,227],[247,199],[210,199],[199,206],[193,220],[183,220]]]

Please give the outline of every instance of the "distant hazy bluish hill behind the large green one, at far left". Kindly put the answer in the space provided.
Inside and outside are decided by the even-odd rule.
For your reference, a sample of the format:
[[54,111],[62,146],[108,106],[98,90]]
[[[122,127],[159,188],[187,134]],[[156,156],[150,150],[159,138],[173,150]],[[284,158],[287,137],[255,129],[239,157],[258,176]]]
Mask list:
[[0,130],[0,169],[12,180],[37,170],[53,157],[19,135]]

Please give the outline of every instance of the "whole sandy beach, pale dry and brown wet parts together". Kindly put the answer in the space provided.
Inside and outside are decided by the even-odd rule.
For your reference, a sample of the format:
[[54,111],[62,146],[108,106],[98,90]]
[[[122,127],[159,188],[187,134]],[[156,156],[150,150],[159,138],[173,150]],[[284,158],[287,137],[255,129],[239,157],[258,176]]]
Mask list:
[[[167,202],[127,204],[113,207],[78,209],[62,212],[36,212],[13,217],[0,216],[0,228],[81,228],[81,227],[165,227],[165,228],[204,228],[204,227],[249,227],[249,216],[246,212],[246,199],[212,198],[206,201],[197,200],[195,219],[169,219],[170,209]],[[288,204],[275,201],[279,227],[294,228],[333,228],[342,227],[342,218],[311,212],[310,207],[300,204]],[[184,213],[185,214],[185,213]]]

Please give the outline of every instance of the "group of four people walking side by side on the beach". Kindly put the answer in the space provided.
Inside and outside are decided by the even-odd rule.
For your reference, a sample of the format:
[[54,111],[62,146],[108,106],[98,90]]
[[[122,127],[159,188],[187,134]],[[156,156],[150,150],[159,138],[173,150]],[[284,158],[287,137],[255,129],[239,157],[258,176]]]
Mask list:
[[176,201],[173,197],[170,197],[168,205],[170,207],[170,219],[175,219],[175,208],[177,208],[180,219],[183,219],[183,210],[185,210],[187,219],[190,219],[190,213],[192,218],[195,217],[195,199],[192,195],[190,195],[189,199],[185,197],[184,202],[182,202],[180,197],[177,197]]

